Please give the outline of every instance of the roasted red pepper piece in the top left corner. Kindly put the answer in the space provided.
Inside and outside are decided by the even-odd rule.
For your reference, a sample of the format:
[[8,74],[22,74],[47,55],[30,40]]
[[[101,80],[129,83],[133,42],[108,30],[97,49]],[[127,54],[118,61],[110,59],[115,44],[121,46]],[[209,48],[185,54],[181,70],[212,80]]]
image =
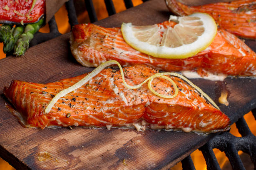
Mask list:
[[45,11],[45,0],[1,0],[0,23],[35,23]]

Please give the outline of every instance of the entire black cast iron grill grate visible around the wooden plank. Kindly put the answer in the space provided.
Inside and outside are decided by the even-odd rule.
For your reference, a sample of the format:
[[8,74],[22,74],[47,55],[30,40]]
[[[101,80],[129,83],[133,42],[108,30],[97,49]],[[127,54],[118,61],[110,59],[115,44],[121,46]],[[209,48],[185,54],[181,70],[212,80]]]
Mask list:
[[[143,2],[145,1],[146,0],[143,0]],[[84,2],[91,23],[97,21],[97,15],[95,13],[95,8],[92,0],[85,0]],[[131,0],[124,0],[124,2],[126,8],[133,7],[133,3]],[[116,13],[112,0],[105,0],[105,5],[109,16]],[[73,0],[69,0],[68,2],[66,2],[66,8],[68,11],[69,24],[71,25],[71,27],[78,24]],[[50,40],[54,37],[61,35],[61,33],[58,31],[58,27],[56,25],[54,17],[51,18],[51,20],[49,21],[49,28],[49,33],[37,32],[30,45],[34,46],[41,42]],[[252,112],[253,116],[256,119],[256,109],[252,110]],[[244,112],[243,115],[246,113],[247,112]],[[254,165],[254,169],[256,169],[256,136],[251,133],[245,119],[243,118],[243,115],[238,117],[239,119],[235,122],[236,127],[238,128],[238,131],[242,136],[241,138],[231,135],[229,132],[218,133],[214,135],[214,137],[210,139],[208,143],[199,148],[205,158],[207,170],[220,170],[220,165],[218,164],[218,161],[213,153],[214,148],[218,148],[220,151],[223,151],[225,153],[230,161],[233,170],[245,170],[245,167],[238,155],[239,150],[250,155],[251,162]],[[184,158],[181,163],[184,170],[195,170],[194,163],[190,156]]]

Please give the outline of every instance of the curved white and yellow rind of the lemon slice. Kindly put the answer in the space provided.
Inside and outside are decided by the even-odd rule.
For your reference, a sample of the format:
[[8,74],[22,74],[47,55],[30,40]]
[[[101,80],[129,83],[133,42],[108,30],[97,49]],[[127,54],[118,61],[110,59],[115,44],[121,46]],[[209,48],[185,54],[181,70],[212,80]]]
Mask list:
[[188,45],[170,48],[165,46],[158,47],[155,45],[150,45],[147,42],[141,42],[133,34],[131,34],[131,32],[133,32],[133,25],[131,23],[123,23],[121,32],[125,42],[140,52],[159,58],[184,59],[192,57],[198,52],[205,50],[212,43],[217,34],[217,25],[210,15],[205,13],[195,13],[189,16],[199,17],[200,20],[203,21],[202,26],[205,28],[205,32],[199,36],[195,42]]

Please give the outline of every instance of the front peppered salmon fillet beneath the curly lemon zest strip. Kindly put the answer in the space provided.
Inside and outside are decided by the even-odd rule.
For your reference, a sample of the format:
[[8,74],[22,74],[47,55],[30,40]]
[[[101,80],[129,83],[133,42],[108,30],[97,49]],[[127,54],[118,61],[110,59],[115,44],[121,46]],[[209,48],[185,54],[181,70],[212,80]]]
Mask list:
[[[137,85],[157,71],[146,65],[123,68],[129,85]],[[181,129],[200,133],[228,130],[230,120],[210,105],[190,85],[169,76],[179,87],[172,99],[154,95],[144,84],[139,89],[123,85],[120,70],[102,70],[86,84],[61,97],[49,113],[45,108],[59,91],[81,80],[87,74],[48,84],[13,80],[4,94],[22,115],[26,126],[136,127],[137,130]],[[156,92],[172,95],[174,88],[163,78],[155,78]]]

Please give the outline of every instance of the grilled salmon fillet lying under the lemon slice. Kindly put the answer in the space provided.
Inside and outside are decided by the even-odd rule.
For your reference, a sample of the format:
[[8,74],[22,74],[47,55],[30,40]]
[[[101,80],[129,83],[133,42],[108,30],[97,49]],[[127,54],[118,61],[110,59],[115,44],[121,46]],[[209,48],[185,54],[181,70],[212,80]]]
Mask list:
[[[174,26],[166,21],[159,26]],[[197,55],[185,59],[163,59],[139,52],[123,39],[120,28],[79,24],[72,29],[71,52],[84,66],[96,67],[108,60],[123,66],[146,64],[158,70],[197,70],[227,75],[256,75],[256,53],[242,40],[225,30],[218,30],[212,44]]]

